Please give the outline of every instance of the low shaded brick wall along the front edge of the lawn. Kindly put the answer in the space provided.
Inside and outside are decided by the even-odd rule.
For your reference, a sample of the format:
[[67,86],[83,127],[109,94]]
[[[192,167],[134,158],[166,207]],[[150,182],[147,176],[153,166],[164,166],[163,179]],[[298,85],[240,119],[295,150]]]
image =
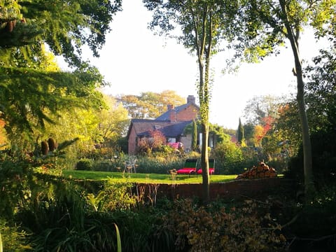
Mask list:
[[[294,191],[293,181],[283,178],[236,180],[227,183],[211,183],[210,197],[212,200],[221,198],[251,197],[267,194],[269,190]],[[145,196],[156,193],[157,197],[166,196],[169,199],[181,197],[202,197],[202,184],[137,184],[137,190],[145,192]],[[156,191],[155,191],[156,190]]]

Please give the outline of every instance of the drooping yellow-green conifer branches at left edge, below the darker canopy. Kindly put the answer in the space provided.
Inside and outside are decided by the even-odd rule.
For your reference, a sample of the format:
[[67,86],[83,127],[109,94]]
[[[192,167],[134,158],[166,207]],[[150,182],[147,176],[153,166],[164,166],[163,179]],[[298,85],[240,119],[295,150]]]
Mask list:
[[[31,134],[34,128],[54,123],[50,114],[85,105],[98,108],[101,94],[95,90],[102,76],[90,67],[74,73],[0,68],[0,116],[8,134]],[[59,115],[60,116],[60,115]]]

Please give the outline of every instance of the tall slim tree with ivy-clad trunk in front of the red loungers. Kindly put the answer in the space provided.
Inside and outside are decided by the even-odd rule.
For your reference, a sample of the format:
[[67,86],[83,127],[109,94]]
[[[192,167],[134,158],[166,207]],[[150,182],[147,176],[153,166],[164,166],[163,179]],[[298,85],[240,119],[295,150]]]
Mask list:
[[[200,100],[200,123],[202,132],[202,184],[204,202],[209,201],[209,100],[211,56],[218,52],[223,38],[232,38],[237,10],[235,1],[144,0],[146,8],[153,11],[151,28],[159,34],[175,37],[194,52],[199,69],[198,97]],[[181,34],[170,34],[176,27]]]

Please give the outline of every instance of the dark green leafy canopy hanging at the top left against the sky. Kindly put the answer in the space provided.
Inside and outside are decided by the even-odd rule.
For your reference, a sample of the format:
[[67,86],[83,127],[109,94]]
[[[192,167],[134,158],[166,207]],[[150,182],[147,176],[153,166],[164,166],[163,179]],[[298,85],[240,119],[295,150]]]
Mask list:
[[81,64],[81,46],[86,44],[94,56],[105,43],[109,22],[121,8],[121,1],[66,2],[20,1],[21,13],[43,30],[38,37],[55,55],[63,55],[72,65]]

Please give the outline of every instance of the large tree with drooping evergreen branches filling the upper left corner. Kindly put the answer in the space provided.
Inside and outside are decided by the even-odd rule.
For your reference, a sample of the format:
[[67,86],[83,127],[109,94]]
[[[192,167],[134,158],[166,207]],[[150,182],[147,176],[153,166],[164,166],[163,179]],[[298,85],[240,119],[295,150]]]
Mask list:
[[[103,105],[96,88],[104,81],[97,69],[80,60],[80,47],[86,43],[98,55],[120,5],[118,0],[114,5],[104,0],[8,0],[1,6],[0,118],[9,134],[31,134],[34,127],[43,129],[45,123],[55,123],[50,115],[60,116],[57,112],[64,106]],[[27,33],[29,29],[34,34]],[[73,72],[50,67],[45,44],[76,66]]]

